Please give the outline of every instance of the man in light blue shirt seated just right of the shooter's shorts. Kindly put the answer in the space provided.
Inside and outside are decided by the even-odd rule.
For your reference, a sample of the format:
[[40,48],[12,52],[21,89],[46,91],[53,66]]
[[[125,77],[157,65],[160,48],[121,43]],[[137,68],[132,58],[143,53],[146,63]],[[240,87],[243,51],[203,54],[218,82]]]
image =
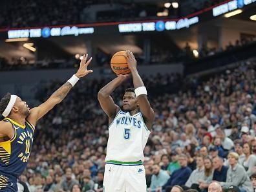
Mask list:
[[160,165],[153,165],[153,175],[151,177],[150,190],[156,191],[159,187],[164,186],[164,184],[169,179],[169,175],[166,171],[160,169]]

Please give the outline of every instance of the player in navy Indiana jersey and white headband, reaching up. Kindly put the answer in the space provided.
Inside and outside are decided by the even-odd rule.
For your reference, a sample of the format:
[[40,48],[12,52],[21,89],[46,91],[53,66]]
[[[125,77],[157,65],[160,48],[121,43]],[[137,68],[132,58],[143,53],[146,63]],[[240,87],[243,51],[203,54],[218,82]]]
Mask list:
[[17,178],[25,169],[32,148],[37,121],[60,103],[70,89],[92,70],[87,70],[92,58],[83,56],[80,68],[47,101],[29,109],[27,103],[16,95],[6,94],[0,101],[0,191],[17,191]]

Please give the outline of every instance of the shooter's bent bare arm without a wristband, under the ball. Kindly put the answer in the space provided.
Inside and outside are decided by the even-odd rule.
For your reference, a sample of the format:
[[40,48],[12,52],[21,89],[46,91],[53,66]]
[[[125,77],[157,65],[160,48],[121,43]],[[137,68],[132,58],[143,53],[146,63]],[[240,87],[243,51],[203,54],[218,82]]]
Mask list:
[[118,75],[98,92],[100,106],[110,119],[114,118],[114,116],[116,116],[116,112],[120,110],[120,107],[114,104],[111,93],[116,89],[116,87],[121,85],[123,81],[127,80],[128,77],[129,75]]

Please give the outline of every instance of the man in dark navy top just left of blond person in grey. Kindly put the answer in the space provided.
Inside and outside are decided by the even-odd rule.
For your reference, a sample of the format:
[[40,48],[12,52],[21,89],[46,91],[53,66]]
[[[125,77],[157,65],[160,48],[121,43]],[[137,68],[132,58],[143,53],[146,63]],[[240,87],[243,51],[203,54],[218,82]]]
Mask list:
[[213,180],[226,182],[228,167],[223,165],[223,159],[219,156],[213,158]]

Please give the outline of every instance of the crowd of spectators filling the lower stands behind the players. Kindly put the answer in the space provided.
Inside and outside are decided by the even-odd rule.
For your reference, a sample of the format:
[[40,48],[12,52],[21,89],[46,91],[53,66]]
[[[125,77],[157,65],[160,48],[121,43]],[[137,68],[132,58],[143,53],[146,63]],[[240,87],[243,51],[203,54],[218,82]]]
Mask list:
[[[204,80],[177,74],[144,77],[156,114],[144,150],[149,191],[204,192],[213,180],[224,189],[253,191],[255,66],[254,61]],[[81,80],[38,123],[28,167],[19,178],[21,189],[103,191],[108,120],[96,95],[108,81]],[[37,99],[45,100],[59,85],[40,85]],[[130,86],[125,83],[114,92],[118,105]]]

